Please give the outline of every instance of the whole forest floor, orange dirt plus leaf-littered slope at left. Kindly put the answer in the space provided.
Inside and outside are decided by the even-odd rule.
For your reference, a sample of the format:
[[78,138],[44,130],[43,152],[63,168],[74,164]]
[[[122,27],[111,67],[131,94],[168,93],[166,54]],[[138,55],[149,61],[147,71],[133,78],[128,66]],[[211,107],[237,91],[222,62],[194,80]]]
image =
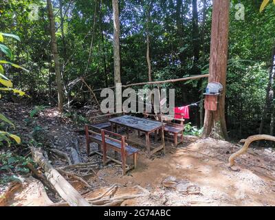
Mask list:
[[[118,184],[115,195],[137,194],[140,188],[136,186],[148,192],[144,197],[124,201],[122,206],[275,206],[275,151],[272,148],[252,146],[248,153],[236,159],[238,170],[234,171],[228,168],[228,157],[241,146],[186,136],[177,148],[166,144],[166,155],[159,153],[151,159],[146,157],[145,149],[140,148],[137,168],[122,176],[120,166],[112,163],[103,166],[98,155],[87,157],[85,136],[76,132],[82,127],[72,118],[61,117],[56,109],[48,108],[30,119],[32,109],[34,107],[22,104],[0,103],[0,112],[16,124],[16,133],[23,141],[36,136],[44,149],[56,148],[68,155],[77,145],[82,162],[96,164],[74,170],[85,178],[90,188],[65,176],[87,199],[98,197]],[[56,168],[67,165],[50,152],[49,158]],[[5,206],[46,206],[62,201],[48,190],[45,192],[41,182],[30,175],[23,175],[21,179],[23,183],[12,191]],[[8,187],[9,184],[1,185],[0,195]]]

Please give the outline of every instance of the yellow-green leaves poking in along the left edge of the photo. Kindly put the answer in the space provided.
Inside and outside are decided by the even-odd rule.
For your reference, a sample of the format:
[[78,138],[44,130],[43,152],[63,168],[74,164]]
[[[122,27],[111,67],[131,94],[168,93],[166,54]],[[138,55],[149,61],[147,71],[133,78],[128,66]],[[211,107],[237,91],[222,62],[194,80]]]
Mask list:
[[[5,54],[5,56],[12,59],[12,52],[6,45],[3,44],[4,37],[12,37],[12,38],[16,39],[17,41],[20,41],[20,38],[19,38],[19,36],[16,36],[14,34],[5,34],[5,33],[0,32],[0,52],[3,52],[3,54]],[[12,81],[9,80],[4,75],[3,64],[12,65],[13,67],[20,68],[20,69],[23,69],[28,72],[27,69],[24,69],[23,67],[21,67],[17,64],[11,63],[10,61],[2,60],[0,57],[0,91],[12,91],[14,94],[19,94],[19,96],[25,96],[25,93],[23,91],[14,89],[13,85],[12,85]],[[1,94],[0,94],[0,98],[1,98]],[[1,113],[0,113],[0,120],[7,124],[10,124],[15,129],[14,124]],[[13,135],[11,133],[8,133],[7,131],[0,131],[0,142],[5,141],[10,146],[10,143],[11,143],[10,138],[15,140],[15,142],[17,142],[17,144],[21,143],[21,139],[17,135]]]

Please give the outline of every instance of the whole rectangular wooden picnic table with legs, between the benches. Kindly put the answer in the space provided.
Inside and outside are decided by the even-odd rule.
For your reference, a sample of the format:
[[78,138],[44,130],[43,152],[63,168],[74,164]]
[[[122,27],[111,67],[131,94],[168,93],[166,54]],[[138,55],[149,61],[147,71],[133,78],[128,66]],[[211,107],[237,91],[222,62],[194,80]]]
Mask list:
[[[138,137],[140,137],[140,132],[145,133],[145,145],[149,158],[151,157],[151,155],[153,155],[157,151],[161,151],[162,149],[165,153],[164,135],[160,135],[162,140],[162,144],[160,146],[154,147],[150,142],[150,134],[153,132],[155,133],[155,142],[157,142],[157,131],[161,131],[162,133],[164,132],[164,123],[155,120],[149,120],[146,118],[137,118],[130,115],[123,115],[118,118],[111,118],[109,122],[111,122],[112,131],[114,124],[126,127],[128,137],[129,129],[136,130],[138,132]],[[153,148],[152,151],[151,148]]]

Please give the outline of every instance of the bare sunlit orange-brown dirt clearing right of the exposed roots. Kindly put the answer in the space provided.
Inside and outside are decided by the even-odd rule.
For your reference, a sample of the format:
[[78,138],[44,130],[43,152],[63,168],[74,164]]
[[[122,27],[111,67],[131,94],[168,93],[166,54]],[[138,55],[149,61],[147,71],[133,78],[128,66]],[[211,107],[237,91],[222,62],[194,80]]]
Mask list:
[[[138,168],[124,177],[120,168],[103,168],[98,179],[107,186],[138,185],[150,192],[124,206],[275,206],[274,155],[251,149],[252,154],[237,159],[239,170],[233,171],[227,159],[239,147],[229,142],[192,137],[179,148],[167,148],[165,156],[153,160],[143,153]],[[181,188],[164,186],[166,179]],[[185,186],[196,190],[186,192]]]

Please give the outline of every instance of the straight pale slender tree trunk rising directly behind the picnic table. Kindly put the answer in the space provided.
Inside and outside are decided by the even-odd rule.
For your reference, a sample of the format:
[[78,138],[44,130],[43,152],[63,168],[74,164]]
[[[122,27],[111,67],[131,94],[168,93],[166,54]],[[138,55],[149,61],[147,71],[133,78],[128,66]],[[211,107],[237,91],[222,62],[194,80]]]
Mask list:
[[119,98],[122,97],[120,78],[120,12],[118,0],[112,0],[113,5],[113,63],[114,63],[114,74],[115,74],[115,94],[116,94],[116,111],[121,112],[121,102]]

